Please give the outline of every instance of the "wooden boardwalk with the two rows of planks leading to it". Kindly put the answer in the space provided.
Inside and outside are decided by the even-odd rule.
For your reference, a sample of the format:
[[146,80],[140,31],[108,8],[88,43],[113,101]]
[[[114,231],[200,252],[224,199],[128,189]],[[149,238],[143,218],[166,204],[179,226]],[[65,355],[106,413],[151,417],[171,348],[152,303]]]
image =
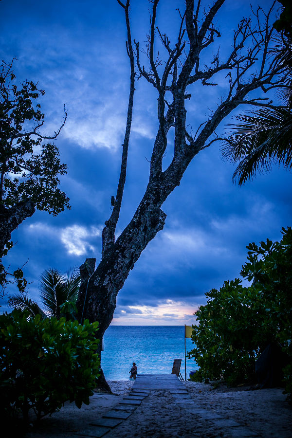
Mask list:
[[[176,412],[179,409],[179,415],[185,416],[185,421],[187,420],[188,416],[191,416],[192,418],[196,416],[196,422],[201,422],[201,428],[206,428],[207,431],[210,431],[210,428],[212,429],[211,432],[213,437],[261,437],[253,430],[248,429],[247,427],[237,423],[237,421],[224,418],[219,412],[204,409],[201,406],[198,406],[198,404],[188,394],[183,383],[180,382],[179,378],[175,374],[139,374],[131,388],[131,392],[129,393],[129,395],[125,395],[123,399],[118,402],[117,405],[113,406],[110,411],[103,414],[101,418],[92,419],[91,423],[89,424],[91,428],[79,430],[76,435],[71,436],[71,438],[101,438],[104,437],[104,435],[106,435],[108,432],[113,431],[116,427],[117,429],[115,430],[115,434],[112,432],[109,435],[110,437],[118,437],[120,424],[123,421],[126,421],[137,408],[139,410],[139,406],[141,405],[141,403],[143,403],[146,397],[151,398],[152,396],[152,402],[153,398],[156,398],[156,413],[160,414],[159,398],[161,394],[153,394],[153,391],[155,391],[156,389],[169,391],[173,398],[173,403],[177,405]],[[164,399],[164,397],[162,397],[161,399]],[[169,408],[169,399],[167,400],[167,403],[167,406]],[[165,408],[165,401],[163,408]],[[148,405],[147,403],[145,403],[144,409],[149,409],[149,403]],[[143,413],[143,411],[141,412]],[[138,418],[139,417],[137,417],[137,419]],[[211,422],[211,425],[208,424],[208,422]],[[130,427],[130,429],[132,428],[133,426]],[[142,438],[148,436],[148,433],[149,431],[143,435],[137,433],[135,435]],[[151,435],[153,434],[151,433]],[[129,436],[131,436],[131,432],[129,433]]]

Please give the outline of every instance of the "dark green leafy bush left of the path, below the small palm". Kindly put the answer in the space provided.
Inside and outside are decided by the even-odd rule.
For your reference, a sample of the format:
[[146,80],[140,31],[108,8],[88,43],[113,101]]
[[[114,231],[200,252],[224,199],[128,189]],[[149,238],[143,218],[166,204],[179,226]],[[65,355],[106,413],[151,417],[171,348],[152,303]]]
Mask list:
[[66,401],[89,404],[99,376],[97,329],[88,320],[28,319],[21,310],[0,316],[0,412],[6,421],[28,424]]

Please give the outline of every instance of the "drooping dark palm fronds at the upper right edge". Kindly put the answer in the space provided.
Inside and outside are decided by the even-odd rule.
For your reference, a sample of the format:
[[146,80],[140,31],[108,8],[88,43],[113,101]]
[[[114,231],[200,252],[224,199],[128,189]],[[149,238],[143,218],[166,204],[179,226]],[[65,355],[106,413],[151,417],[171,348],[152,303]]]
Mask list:
[[245,112],[235,118],[240,122],[231,126],[222,155],[231,163],[239,164],[233,181],[244,184],[256,172],[269,171],[272,163],[292,168],[292,43],[282,40],[274,62],[284,73],[277,87],[278,97],[284,106],[262,108]]

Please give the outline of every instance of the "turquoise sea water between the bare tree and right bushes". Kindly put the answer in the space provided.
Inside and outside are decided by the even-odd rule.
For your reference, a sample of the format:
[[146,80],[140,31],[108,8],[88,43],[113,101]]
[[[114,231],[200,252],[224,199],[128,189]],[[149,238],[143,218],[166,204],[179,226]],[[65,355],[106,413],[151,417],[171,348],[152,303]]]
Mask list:
[[[193,347],[186,338],[186,351]],[[101,367],[108,380],[128,380],[133,362],[138,374],[170,374],[174,359],[182,359],[184,378],[184,326],[110,326],[104,335]],[[187,379],[194,369],[194,360],[187,359]]]

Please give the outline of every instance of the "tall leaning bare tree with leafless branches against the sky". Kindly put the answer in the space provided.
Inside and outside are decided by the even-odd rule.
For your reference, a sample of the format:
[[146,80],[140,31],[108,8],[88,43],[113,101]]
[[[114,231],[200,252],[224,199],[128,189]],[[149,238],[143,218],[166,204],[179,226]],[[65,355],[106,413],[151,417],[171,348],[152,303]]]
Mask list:
[[[214,18],[224,0],[216,0],[208,10],[202,10],[201,0],[194,9],[194,0],[186,0],[185,11],[180,14],[181,24],[177,41],[171,44],[167,35],[156,27],[159,0],[152,0],[152,12],[148,41],[144,54],[148,68],[142,65],[139,43],[132,46],[129,3],[117,0],[125,11],[128,31],[127,53],[130,60],[130,94],[127,128],[123,144],[122,165],[116,198],[112,197],[113,210],[105,222],[102,233],[102,257],[95,269],[95,259],[87,259],[81,266],[81,286],[78,299],[79,318],[99,321],[99,337],[109,327],[116,307],[116,296],[123,287],[129,271],[141,256],[146,245],[163,229],[166,215],[162,204],[175,187],[180,184],[183,173],[192,159],[201,151],[221,140],[216,134],[219,123],[239,105],[274,108],[271,101],[262,97],[250,97],[256,89],[268,91],[282,79],[277,76],[279,67],[269,56],[273,34],[270,18],[274,3],[269,11],[261,7],[251,11],[250,18],[243,18],[234,31],[230,55],[221,59],[219,52],[213,55],[209,65],[201,66],[200,57],[216,38],[220,37]],[[273,22],[272,17],[272,22]],[[255,23],[254,23],[255,22]],[[160,41],[166,57],[163,62],[154,49]],[[134,62],[135,61],[135,62]],[[145,194],[127,227],[115,239],[119,219],[128,157],[128,143],[132,119],[135,64],[137,77],[144,78],[157,90],[157,116],[159,128],[150,160],[149,181]],[[228,91],[221,98],[217,109],[206,118],[196,134],[187,130],[185,100],[191,98],[186,91],[201,81],[202,87],[217,84],[214,76],[226,72]],[[261,96],[261,93],[259,94]],[[167,148],[167,133],[174,128],[174,153],[172,162],[163,170],[163,158]],[[100,344],[101,345],[101,344]],[[101,348],[101,347],[100,347]],[[99,385],[110,390],[103,373]]]

